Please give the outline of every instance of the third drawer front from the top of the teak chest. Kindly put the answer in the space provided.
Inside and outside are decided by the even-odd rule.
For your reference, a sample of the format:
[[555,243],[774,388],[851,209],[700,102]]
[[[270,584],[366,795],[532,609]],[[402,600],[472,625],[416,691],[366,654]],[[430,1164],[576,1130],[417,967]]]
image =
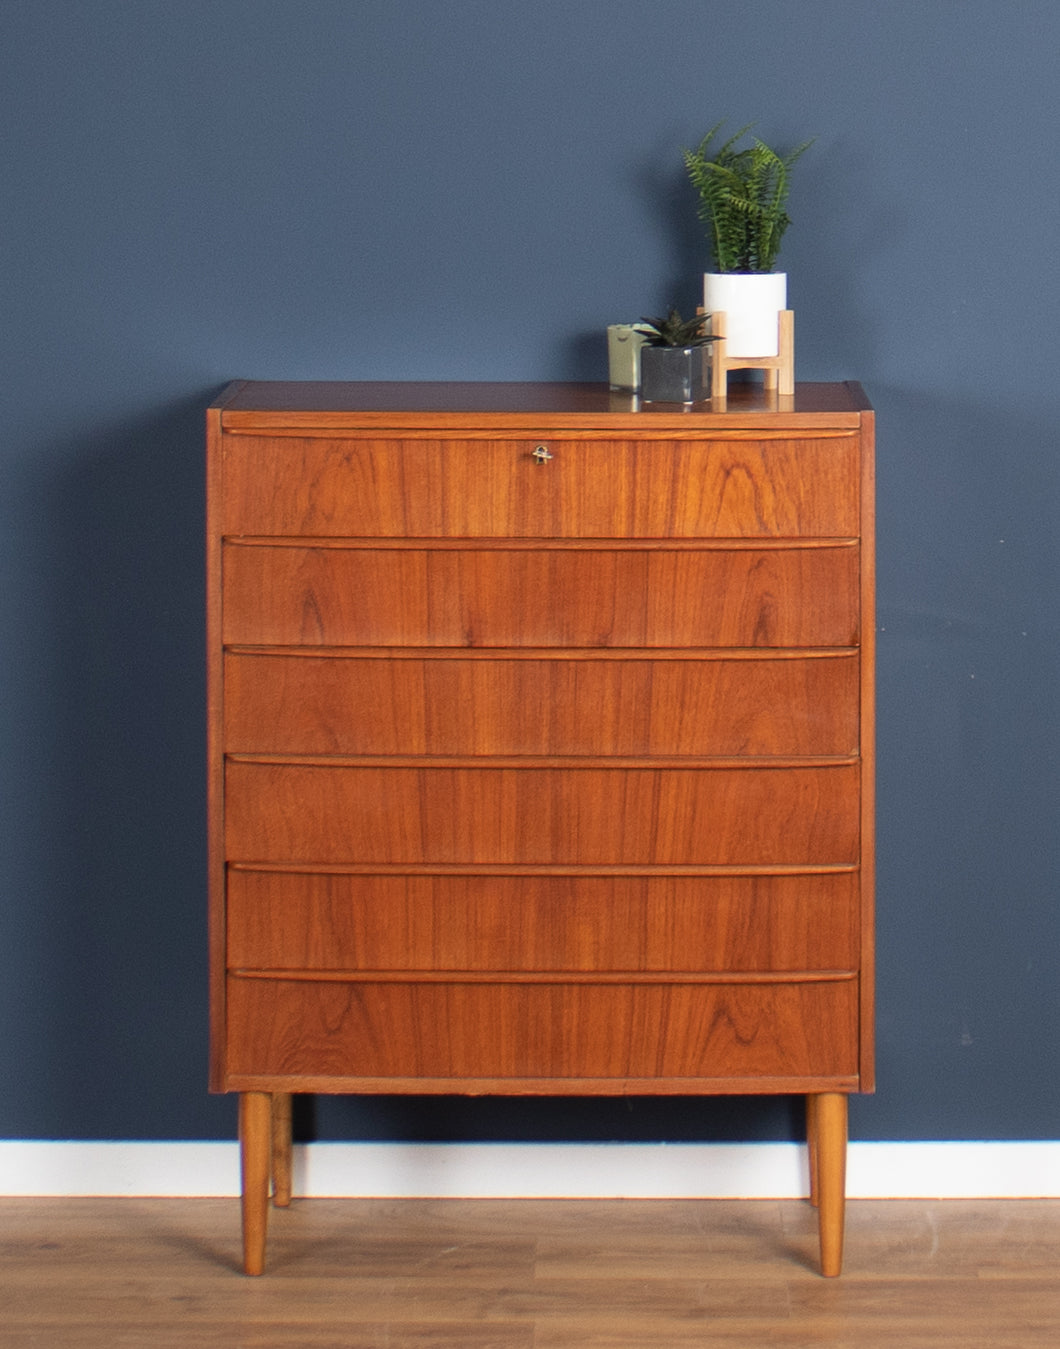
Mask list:
[[858,657],[229,653],[225,745],[279,754],[855,754]]

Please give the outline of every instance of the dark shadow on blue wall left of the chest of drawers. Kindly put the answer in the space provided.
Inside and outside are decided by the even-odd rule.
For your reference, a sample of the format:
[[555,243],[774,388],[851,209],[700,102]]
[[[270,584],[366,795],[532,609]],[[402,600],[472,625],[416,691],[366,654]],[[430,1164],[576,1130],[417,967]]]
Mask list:
[[[39,1135],[212,1137],[202,409],[53,447],[39,507]],[[28,1132],[23,1128],[22,1132]]]

